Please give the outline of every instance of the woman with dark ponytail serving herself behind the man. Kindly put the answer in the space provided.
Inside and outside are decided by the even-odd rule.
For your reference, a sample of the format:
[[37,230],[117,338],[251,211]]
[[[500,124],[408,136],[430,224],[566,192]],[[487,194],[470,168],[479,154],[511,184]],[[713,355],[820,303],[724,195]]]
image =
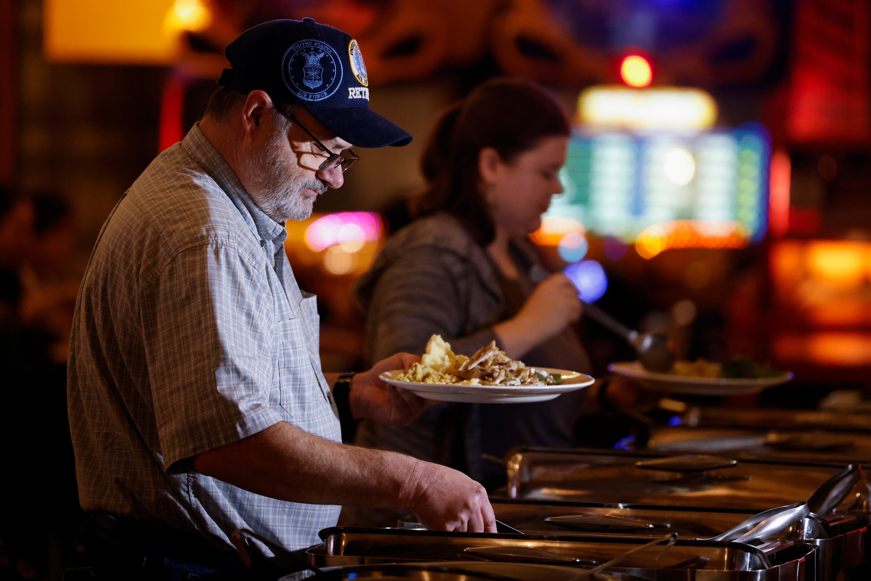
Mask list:
[[[563,191],[569,134],[553,98],[521,80],[482,84],[443,113],[422,156],[422,217],[388,240],[356,288],[368,361],[422,353],[441,334],[456,354],[496,341],[527,365],[591,371],[571,325],[582,311],[577,290],[545,270],[527,238]],[[364,422],[355,443],[447,464],[493,488],[504,467],[482,454],[574,445],[597,396],[591,388],[522,406],[442,403],[405,427]]]

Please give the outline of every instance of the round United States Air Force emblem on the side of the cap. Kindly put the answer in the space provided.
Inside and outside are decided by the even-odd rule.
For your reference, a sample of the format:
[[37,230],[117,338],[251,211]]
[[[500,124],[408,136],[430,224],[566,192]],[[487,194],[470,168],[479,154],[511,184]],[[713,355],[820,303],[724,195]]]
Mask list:
[[329,44],[300,40],[284,53],[287,89],[306,101],[330,97],[341,85],[341,60]]

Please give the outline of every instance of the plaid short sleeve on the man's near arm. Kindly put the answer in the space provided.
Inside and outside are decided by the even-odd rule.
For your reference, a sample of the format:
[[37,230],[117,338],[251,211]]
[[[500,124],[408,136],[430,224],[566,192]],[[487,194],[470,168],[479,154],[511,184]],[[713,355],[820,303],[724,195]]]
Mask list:
[[164,469],[282,421],[270,406],[273,297],[237,249],[179,253],[140,302]]

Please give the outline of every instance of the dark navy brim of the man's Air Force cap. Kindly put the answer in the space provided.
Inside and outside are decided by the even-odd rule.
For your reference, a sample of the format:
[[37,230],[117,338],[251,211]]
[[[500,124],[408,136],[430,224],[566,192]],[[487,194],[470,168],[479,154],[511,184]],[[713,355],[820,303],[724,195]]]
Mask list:
[[351,145],[375,148],[411,143],[410,133],[368,107],[303,106],[321,125]]

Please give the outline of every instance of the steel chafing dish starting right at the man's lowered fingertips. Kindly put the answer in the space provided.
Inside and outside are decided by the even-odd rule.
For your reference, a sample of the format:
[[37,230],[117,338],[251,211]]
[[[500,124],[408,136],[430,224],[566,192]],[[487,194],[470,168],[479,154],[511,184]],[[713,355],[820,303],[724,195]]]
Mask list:
[[[705,509],[685,506],[569,503],[555,501],[491,499],[496,518],[528,534],[620,535],[658,537],[677,532],[680,538],[722,536],[753,517],[753,510]],[[787,507],[788,508],[788,507]],[[807,510],[806,510],[807,512]],[[816,578],[829,581],[842,572],[855,571],[866,560],[868,515],[820,517],[804,516],[784,520],[779,530],[756,537],[792,539],[817,548],[814,556]],[[741,532],[741,531],[739,531]],[[753,534],[750,534],[753,537]],[[753,544],[753,539],[748,540]]]

